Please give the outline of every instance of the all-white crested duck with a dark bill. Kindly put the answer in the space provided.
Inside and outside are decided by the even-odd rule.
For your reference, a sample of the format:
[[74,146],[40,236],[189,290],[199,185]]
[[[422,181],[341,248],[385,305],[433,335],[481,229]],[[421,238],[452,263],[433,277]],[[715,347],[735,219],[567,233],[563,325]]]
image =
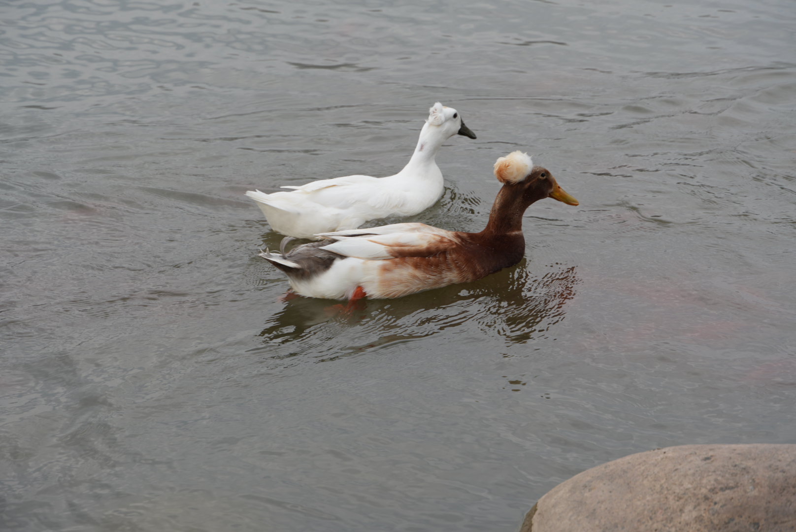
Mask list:
[[443,194],[443,174],[435,162],[439,147],[453,135],[475,139],[454,108],[439,102],[429,109],[415,153],[395,175],[373,178],[347,175],[302,186],[283,186],[291,192],[265,194],[249,190],[271,229],[297,238],[357,229],[366,221],[423,212]]

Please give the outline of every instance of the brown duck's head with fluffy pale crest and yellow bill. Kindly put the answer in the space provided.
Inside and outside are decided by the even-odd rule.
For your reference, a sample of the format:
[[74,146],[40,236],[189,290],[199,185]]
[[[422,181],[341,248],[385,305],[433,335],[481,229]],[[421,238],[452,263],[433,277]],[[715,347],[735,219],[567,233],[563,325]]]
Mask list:
[[521,194],[527,205],[542,198],[553,198],[567,205],[579,205],[578,200],[567,194],[556,182],[550,170],[543,166],[533,166],[530,155],[521,151],[513,151],[498,158],[494,172],[497,181],[512,188],[514,194]]

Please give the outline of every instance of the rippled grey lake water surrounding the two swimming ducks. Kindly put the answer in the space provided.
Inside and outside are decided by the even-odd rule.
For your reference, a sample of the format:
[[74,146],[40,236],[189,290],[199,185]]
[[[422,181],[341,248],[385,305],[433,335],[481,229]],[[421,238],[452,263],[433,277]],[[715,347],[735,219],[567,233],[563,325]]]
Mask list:
[[[513,532],[607,460],[796,442],[790,0],[0,13],[2,530]],[[244,192],[393,174],[438,100],[478,139],[411,221],[482,229],[517,149],[580,205],[478,283],[281,301]]]

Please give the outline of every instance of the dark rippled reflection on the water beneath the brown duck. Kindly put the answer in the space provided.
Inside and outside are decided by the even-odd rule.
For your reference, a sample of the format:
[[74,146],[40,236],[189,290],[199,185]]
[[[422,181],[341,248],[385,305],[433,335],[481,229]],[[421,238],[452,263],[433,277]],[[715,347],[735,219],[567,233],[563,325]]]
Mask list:
[[[357,354],[442,331],[523,343],[544,337],[549,327],[564,319],[564,304],[575,296],[579,283],[575,266],[533,264],[533,269],[537,271],[529,271],[521,260],[472,283],[400,299],[359,301],[347,314],[331,308],[329,301],[295,297],[267,319],[259,336],[278,358],[309,354],[329,359],[331,353]],[[547,272],[540,273],[543,270]],[[352,328],[358,345],[351,345]],[[312,346],[322,346],[321,352]]]

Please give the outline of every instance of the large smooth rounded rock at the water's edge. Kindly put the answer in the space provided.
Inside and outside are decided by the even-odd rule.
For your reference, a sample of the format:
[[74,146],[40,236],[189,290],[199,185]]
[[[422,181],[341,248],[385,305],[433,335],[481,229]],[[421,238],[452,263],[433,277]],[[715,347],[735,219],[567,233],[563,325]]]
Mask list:
[[583,471],[520,532],[793,532],[796,445],[682,445]]

